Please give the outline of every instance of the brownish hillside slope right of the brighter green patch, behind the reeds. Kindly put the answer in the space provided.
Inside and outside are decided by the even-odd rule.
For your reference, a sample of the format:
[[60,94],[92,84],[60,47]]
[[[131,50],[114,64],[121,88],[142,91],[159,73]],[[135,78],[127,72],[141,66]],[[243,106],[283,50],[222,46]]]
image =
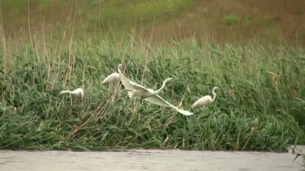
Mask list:
[[304,0],[196,0],[178,17],[155,24],[155,34],[304,44],[304,18]]

